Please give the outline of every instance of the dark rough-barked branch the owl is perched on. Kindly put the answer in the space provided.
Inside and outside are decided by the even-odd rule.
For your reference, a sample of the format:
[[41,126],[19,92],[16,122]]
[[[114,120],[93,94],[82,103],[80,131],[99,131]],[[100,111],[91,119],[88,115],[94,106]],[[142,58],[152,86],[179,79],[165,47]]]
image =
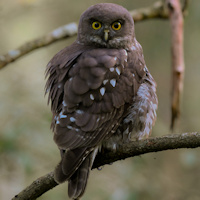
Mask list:
[[[197,147],[200,147],[200,133],[197,132],[153,137],[130,143],[122,142],[118,145],[116,152],[113,152],[109,149],[103,149],[95,158],[92,168],[98,168],[102,165],[113,163],[117,160],[122,160],[150,152]],[[53,176],[53,172],[50,172],[38,178],[30,186],[13,197],[12,200],[37,199],[42,194],[58,185],[54,181]]]

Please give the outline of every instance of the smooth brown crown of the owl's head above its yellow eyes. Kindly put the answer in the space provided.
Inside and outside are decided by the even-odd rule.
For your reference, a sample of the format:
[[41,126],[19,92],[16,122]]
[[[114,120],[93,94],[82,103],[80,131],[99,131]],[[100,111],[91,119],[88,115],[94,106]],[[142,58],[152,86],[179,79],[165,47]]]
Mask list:
[[89,7],[82,15],[81,20],[96,19],[103,22],[113,22],[115,20],[129,20],[132,17],[124,7],[112,3],[100,3]]

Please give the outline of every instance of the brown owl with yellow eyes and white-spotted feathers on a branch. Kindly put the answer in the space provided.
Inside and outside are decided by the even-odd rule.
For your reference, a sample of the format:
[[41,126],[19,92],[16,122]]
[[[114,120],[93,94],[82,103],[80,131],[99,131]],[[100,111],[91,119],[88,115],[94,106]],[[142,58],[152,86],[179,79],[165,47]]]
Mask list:
[[79,199],[102,145],[148,137],[156,120],[156,83],[147,69],[134,21],[120,5],[100,3],[80,17],[76,41],[47,65],[51,128],[61,161],[58,183]]

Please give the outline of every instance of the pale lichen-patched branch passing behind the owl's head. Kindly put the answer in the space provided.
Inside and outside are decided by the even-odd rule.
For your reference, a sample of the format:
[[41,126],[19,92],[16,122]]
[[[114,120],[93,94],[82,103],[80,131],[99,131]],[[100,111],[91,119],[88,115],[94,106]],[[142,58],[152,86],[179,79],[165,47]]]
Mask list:
[[[147,8],[132,10],[130,13],[135,22],[152,18],[167,18],[169,16],[162,1],[158,1]],[[76,35],[77,29],[77,23],[75,22],[61,26],[41,38],[29,41],[4,55],[0,55],[0,69],[35,49]]]

